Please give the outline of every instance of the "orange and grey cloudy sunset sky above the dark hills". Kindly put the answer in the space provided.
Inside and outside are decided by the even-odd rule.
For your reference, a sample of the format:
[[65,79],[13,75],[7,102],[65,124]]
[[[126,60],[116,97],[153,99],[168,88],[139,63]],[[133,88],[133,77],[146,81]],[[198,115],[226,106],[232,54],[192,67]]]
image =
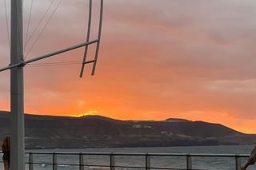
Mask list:
[[[34,0],[31,17],[32,1],[23,1],[24,42],[30,39],[26,56],[58,0],[32,38],[51,1]],[[0,1],[1,67],[10,63],[4,2]],[[93,2],[91,40],[98,31],[99,1]],[[94,77],[91,65],[86,65],[82,78],[81,65],[27,65],[25,112],[99,114],[122,120],[173,117],[256,133],[255,8],[254,0],[106,0]],[[87,13],[88,1],[63,0],[26,59],[84,42]],[[89,50],[92,59],[95,45]],[[83,51],[38,63],[82,61]],[[10,71],[0,73],[0,89],[0,110],[10,110]]]

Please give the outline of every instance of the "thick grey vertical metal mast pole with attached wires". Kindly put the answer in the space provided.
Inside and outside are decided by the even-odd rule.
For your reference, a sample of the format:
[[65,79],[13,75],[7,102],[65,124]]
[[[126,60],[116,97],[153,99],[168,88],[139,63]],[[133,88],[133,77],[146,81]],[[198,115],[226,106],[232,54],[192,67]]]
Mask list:
[[[11,0],[10,65],[23,61],[22,0]],[[23,65],[10,69],[10,169],[24,170]]]

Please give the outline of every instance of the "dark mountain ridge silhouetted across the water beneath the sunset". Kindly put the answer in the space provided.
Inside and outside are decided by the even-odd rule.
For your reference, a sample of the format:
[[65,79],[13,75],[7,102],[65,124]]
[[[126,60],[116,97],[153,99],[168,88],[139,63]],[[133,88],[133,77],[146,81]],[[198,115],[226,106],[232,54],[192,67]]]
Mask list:
[[[26,148],[150,147],[254,144],[256,135],[204,121],[121,121],[98,115],[25,115]],[[0,111],[0,137],[8,135],[8,112]]]

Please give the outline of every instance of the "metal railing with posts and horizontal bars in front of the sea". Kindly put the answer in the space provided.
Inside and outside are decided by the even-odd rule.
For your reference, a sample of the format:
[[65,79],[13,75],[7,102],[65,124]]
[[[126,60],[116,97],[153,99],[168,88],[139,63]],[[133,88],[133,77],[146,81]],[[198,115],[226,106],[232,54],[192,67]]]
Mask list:
[[[1,152],[0,152],[1,153]],[[34,161],[35,155],[47,155],[51,157],[50,162],[40,162]],[[240,170],[242,166],[242,158],[248,158],[248,154],[184,154],[184,153],[112,153],[112,152],[26,152],[26,164],[28,165],[29,170],[34,170],[34,165],[50,165],[53,170],[58,170],[58,166],[76,166],[79,170],[85,170],[86,167],[95,167],[95,168],[108,168],[110,170],[114,170],[115,168],[136,168],[136,169],[190,169],[190,170],[198,170],[198,168],[193,168],[192,158],[194,157],[215,157],[215,158],[231,158],[234,159],[234,168],[236,170]],[[77,164],[70,163],[59,163],[58,156],[77,156],[78,162]],[[84,156],[107,156],[108,164],[85,164]],[[117,156],[140,156],[143,158],[144,164],[143,166],[136,165],[118,165],[116,164]],[[181,157],[185,159],[184,168],[168,168],[168,167],[153,167],[151,166],[151,158],[152,157]],[[182,167],[182,166],[181,166]],[[201,169],[200,169],[201,170]]]

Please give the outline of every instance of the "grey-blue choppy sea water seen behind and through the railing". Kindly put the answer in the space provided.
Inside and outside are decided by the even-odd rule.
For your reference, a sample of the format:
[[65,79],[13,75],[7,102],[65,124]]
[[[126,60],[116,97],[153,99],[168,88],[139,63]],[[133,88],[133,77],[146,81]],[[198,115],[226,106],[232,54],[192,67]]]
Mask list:
[[[193,146],[193,147],[162,147],[162,148],[84,148],[84,149],[43,149],[31,150],[32,152],[131,152],[131,153],[214,153],[214,154],[250,154],[253,145],[236,145],[236,146]],[[34,170],[51,170],[52,155],[34,155]],[[78,164],[78,156],[57,156],[58,164]],[[26,156],[28,161],[28,156]],[[242,159],[242,164],[246,159]],[[110,168],[98,167],[98,165],[110,164],[109,156],[84,156],[85,169],[104,170]],[[221,157],[193,157],[193,169],[207,170],[234,170],[234,158]],[[115,165],[145,167],[145,156],[115,156]],[[150,157],[151,169],[157,168],[186,168],[186,157],[179,156],[152,156]],[[0,169],[3,164],[0,163]],[[28,165],[26,164],[26,169]],[[58,165],[58,170],[78,170],[78,166]],[[116,170],[138,170],[143,168],[115,168]],[[144,168],[145,169],[145,168]],[[256,166],[247,168],[248,170],[256,169]]]

